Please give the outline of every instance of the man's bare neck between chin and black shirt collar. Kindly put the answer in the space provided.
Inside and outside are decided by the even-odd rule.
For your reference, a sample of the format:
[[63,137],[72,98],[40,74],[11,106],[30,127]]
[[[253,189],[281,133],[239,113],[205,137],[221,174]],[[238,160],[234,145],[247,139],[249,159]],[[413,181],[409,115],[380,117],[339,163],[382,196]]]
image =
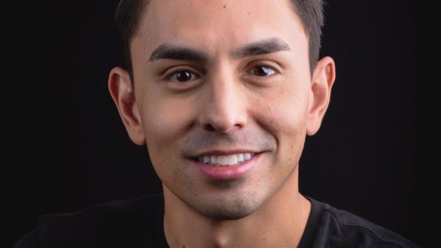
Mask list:
[[297,168],[266,203],[239,220],[213,220],[203,216],[163,185],[164,233],[169,246],[298,247],[311,203],[298,192]]

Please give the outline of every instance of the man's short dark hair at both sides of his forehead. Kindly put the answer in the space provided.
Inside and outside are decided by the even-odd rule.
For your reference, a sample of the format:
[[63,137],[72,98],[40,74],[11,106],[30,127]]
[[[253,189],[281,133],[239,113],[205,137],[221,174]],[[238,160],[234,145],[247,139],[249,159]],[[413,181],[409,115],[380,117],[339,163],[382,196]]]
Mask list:
[[[321,48],[321,28],[324,25],[323,7],[325,0],[292,0],[295,13],[300,19],[308,38],[309,68],[311,77],[319,60]],[[128,71],[134,87],[133,68],[130,56],[132,38],[138,34],[139,25],[148,0],[121,0],[115,12],[115,23],[123,47],[123,67]]]

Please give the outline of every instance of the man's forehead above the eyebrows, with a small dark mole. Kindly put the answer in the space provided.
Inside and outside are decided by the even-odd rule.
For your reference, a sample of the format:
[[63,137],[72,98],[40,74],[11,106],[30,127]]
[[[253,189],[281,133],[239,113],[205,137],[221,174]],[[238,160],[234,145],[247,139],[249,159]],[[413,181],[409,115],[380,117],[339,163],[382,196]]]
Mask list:
[[146,52],[171,43],[216,53],[271,37],[306,44],[291,0],[150,0],[133,41]]

